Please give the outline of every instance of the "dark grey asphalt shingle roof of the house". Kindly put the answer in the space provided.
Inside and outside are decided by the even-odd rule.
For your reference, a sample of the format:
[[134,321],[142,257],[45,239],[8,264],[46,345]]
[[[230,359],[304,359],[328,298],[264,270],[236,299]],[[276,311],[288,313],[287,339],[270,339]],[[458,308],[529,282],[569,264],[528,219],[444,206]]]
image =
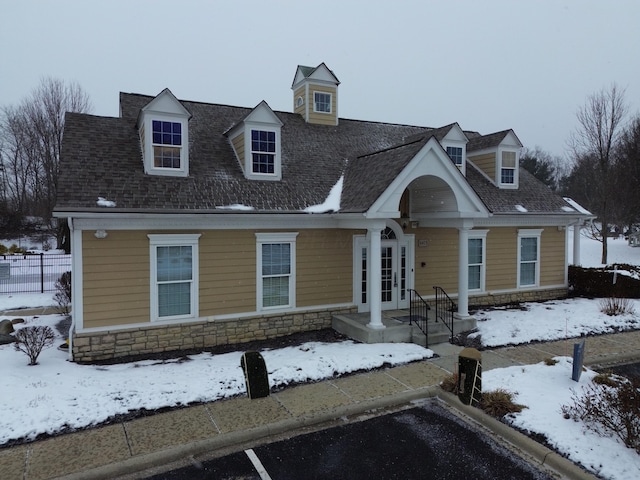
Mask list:
[[[251,109],[182,101],[192,114],[190,174],[155,176],[144,173],[136,128],[141,108],[153,98],[121,94],[118,118],[67,113],[57,211],[104,211],[96,204],[103,197],[116,203],[110,212],[212,212],[234,204],[262,212],[300,212],[322,204],[344,174],[341,212],[364,212],[428,138],[446,135],[451,128],[348,119],[322,126],[275,112],[283,124],[282,180],[248,180],[224,132]],[[495,140],[487,137],[492,136],[478,138]],[[516,213],[515,205],[530,212],[560,213],[567,205],[522,169],[518,190],[498,189],[470,165],[467,180],[494,213]]]

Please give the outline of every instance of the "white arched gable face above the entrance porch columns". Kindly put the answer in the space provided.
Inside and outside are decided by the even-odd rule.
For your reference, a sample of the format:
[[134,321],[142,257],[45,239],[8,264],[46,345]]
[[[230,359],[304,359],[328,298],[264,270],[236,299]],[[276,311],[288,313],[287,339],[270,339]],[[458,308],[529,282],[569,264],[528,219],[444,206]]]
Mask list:
[[[439,177],[449,185],[456,198],[459,211],[465,216],[474,214],[480,214],[480,216],[490,215],[462,172],[453,164],[440,143],[431,137],[403,171],[391,182],[383,194],[373,203],[367,211],[367,216],[374,218],[397,211],[400,205],[400,198],[409,184],[417,178],[428,175]],[[461,205],[463,206],[462,210],[460,210]]]

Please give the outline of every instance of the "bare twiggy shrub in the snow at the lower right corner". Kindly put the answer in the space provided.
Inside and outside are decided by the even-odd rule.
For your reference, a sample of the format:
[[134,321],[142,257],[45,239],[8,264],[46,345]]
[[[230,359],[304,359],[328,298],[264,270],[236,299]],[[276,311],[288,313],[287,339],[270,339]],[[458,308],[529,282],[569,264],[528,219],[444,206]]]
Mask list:
[[603,375],[571,400],[562,406],[565,418],[583,422],[598,435],[616,436],[640,453],[640,380]]

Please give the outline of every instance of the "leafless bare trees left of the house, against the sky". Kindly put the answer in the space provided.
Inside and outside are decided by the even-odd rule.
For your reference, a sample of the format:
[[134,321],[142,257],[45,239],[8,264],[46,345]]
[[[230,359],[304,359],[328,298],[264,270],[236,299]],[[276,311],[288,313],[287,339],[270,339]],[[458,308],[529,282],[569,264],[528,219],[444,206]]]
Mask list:
[[89,112],[88,95],[77,83],[44,78],[0,119],[1,156],[8,203],[19,215],[51,218],[57,194],[66,112]]

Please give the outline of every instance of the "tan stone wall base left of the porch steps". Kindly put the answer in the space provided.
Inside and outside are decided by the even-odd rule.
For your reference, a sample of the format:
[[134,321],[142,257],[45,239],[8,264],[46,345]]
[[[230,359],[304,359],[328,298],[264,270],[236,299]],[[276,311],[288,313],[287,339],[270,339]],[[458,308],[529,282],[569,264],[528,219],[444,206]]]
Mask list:
[[183,324],[153,324],[139,328],[76,333],[73,360],[78,363],[114,360],[180,350],[197,350],[267,340],[299,332],[331,328],[334,315],[355,313],[357,308],[316,309],[296,313]]

